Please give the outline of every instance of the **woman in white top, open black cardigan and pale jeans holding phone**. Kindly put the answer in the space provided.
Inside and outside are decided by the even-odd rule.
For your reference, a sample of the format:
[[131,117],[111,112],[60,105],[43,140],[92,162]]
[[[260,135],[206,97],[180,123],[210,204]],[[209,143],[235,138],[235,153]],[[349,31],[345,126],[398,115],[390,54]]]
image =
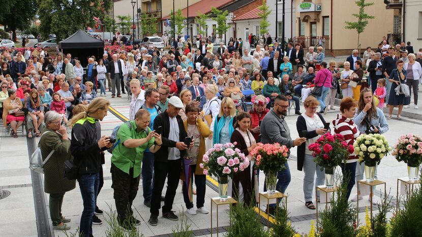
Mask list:
[[[325,176],[324,170],[321,171],[321,167],[315,163],[312,151],[308,147],[312,143],[315,143],[322,134],[327,132],[327,128],[329,128],[329,123],[327,124],[325,122],[322,114],[316,112],[318,105],[319,101],[314,96],[307,97],[304,101],[305,113],[299,115],[296,121],[299,137],[306,138],[306,142],[297,147],[297,170],[303,170],[305,173],[305,206],[312,210],[315,210],[312,202],[312,194],[315,190],[314,183],[316,186],[324,185]],[[319,201],[319,196],[316,197],[316,201]]]

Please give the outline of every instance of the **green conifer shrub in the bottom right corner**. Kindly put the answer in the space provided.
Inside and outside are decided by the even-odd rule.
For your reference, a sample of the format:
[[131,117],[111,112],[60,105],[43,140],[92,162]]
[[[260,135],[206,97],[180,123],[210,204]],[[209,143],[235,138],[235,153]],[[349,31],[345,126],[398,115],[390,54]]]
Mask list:
[[[422,179],[422,174],[419,179]],[[394,213],[393,218],[390,219],[387,236],[420,236],[422,233],[422,221],[420,221],[422,220],[422,188],[420,184],[419,187],[415,187],[411,195],[404,197],[403,202],[403,208]]]

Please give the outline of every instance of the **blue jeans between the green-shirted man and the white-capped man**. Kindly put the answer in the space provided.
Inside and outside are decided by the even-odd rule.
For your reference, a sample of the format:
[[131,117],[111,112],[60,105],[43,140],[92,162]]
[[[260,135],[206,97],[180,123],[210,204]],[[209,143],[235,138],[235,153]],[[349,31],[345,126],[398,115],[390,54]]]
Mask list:
[[149,201],[153,195],[154,187],[154,153],[143,153],[141,174],[143,200]]

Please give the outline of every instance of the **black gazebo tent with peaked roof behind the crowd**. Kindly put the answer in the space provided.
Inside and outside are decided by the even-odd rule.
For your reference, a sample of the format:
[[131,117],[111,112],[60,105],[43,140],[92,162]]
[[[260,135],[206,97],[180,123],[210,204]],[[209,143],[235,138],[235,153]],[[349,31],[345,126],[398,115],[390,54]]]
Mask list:
[[103,57],[104,41],[95,39],[78,29],[67,39],[58,42],[58,48],[62,50],[65,57],[67,53],[71,53],[72,57],[77,57],[81,61],[81,65],[85,67],[88,57],[94,55],[97,60]]

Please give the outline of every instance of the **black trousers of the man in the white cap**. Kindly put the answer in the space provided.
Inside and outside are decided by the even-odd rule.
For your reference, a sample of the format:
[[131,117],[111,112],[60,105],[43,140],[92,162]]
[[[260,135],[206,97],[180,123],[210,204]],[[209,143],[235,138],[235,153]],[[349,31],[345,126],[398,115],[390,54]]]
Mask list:
[[167,162],[154,162],[154,187],[153,196],[151,197],[151,208],[149,212],[151,215],[158,217],[161,206],[161,192],[164,188],[164,183],[167,178],[167,191],[164,198],[163,213],[171,211],[176,195],[176,189],[179,184],[180,170],[182,170],[182,159],[167,160]]

